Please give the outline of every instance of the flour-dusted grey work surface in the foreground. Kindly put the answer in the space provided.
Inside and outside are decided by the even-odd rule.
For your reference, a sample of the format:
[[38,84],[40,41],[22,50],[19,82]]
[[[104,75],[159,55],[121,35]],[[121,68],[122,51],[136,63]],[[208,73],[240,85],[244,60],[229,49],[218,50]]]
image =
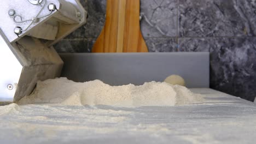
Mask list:
[[196,105],[0,106],[1,143],[255,143],[256,105],[209,88]]

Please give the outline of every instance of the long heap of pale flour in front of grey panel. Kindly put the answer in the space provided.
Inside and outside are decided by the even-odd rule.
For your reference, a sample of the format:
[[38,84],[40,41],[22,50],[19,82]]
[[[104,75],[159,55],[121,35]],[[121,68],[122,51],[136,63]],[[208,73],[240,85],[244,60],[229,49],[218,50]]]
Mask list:
[[66,78],[39,81],[34,92],[18,104],[61,103],[63,105],[111,105],[117,107],[174,106],[199,103],[200,94],[166,82],[146,82],[142,86],[109,86],[100,80],[73,82]]

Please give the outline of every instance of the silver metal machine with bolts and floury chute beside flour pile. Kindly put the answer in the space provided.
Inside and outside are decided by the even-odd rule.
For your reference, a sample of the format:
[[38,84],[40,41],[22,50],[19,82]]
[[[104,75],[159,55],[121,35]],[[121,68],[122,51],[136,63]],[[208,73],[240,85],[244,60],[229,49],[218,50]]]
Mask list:
[[86,22],[79,0],[4,0],[0,5],[0,102],[29,95],[60,76],[53,45]]

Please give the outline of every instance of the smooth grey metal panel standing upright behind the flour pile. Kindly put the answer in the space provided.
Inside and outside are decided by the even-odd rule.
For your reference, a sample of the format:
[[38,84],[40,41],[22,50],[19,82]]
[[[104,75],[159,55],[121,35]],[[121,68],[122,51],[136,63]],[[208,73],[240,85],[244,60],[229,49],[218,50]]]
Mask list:
[[62,53],[62,77],[84,82],[102,80],[109,85],[142,85],[181,75],[187,87],[209,87],[208,52],[169,53]]

